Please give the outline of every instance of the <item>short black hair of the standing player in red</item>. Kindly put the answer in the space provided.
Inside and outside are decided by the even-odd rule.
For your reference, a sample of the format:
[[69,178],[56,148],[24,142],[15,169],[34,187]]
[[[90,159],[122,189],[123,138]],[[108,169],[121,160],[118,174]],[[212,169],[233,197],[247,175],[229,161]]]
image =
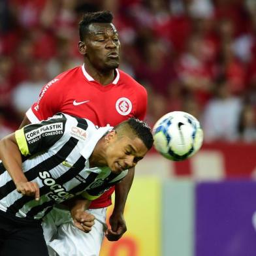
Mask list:
[[109,10],[103,10],[101,12],[86,12],[82,16],[82,20],[79,22],[79,37],[83,41],[86,33],[88,33],[88,27],[92,23],[111,23],[113,15]]

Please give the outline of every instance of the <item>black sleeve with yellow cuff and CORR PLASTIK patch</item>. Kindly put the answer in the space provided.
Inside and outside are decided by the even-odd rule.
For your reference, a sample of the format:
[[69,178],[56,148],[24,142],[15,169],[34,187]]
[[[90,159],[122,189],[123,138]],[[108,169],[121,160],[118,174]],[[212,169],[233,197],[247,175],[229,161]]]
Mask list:
[[54,145],[64,135],[66,121],[63,114],[58,114],[17,130],[15,138],[22,155],[33,155]]

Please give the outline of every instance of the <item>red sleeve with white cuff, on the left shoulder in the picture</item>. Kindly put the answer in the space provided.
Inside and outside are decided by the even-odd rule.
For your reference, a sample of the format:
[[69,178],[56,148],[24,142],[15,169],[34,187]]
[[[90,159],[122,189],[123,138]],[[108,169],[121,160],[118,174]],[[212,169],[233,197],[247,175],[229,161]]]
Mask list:
[[31,123],[46,120],[57,112],[61,112],[63,91],[61,91],[60,83],[59,78],[55,78],[42,88],[39,100],[26,112],[26,116]]

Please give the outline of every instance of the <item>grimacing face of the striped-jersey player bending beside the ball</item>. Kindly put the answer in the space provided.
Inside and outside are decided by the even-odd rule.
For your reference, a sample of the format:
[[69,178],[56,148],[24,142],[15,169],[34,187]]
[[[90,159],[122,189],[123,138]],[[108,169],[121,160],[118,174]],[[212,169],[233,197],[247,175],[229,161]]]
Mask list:
[[112,172],[119,174],[123,170],[135,167],[147,152],[148,148],[138,137],[114,136],[110,138],[106,149],[106,162]]

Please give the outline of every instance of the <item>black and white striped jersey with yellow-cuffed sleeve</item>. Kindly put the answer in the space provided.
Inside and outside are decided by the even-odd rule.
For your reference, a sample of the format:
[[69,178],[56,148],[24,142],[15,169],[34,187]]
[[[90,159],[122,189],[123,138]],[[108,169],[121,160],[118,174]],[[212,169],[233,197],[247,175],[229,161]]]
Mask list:
[[23,196],[0,163],[0,210],[26,219],[41,219],[52,206],[82,194],[93,200],[119,182],[127,170],[114,174],[108,167],[89,167],[89,156],[112,127],[56,114],[16,131],[22,168],[28,181],[37,182],[40,200]]

